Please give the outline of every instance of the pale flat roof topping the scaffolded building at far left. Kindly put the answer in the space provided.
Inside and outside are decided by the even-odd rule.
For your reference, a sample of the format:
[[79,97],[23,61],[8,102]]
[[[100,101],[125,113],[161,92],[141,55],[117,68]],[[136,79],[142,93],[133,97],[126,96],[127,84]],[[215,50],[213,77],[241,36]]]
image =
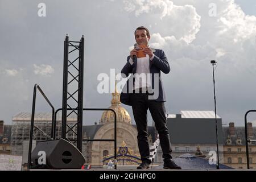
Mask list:
[[[61,121],[61,111],[57,113],[56,121]],[[31,121],[31,113],[20,112],[13,117],[13,121]],[[52,121],[52,113],[36,112],[34,121]],[[77,121],[77,115],[72,113],[68,116],[67,121]]]

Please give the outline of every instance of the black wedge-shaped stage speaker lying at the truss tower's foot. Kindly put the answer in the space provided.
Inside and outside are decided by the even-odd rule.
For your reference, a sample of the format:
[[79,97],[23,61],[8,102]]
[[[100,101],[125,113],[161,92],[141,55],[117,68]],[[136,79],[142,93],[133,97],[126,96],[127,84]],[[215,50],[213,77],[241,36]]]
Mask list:
[[62,138],[39,142],[31,154],[34,169],[81,169],[84,163],[82,153]]

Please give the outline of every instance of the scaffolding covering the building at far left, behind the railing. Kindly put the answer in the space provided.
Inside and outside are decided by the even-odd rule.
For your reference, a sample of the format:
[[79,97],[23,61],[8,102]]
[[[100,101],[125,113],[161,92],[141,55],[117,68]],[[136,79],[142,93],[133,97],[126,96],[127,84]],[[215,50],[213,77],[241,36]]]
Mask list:
[[[36,142],[48,140],[51,136],[51,123],[52,113],[35,113],[35,127],[32,139]],[[67,118],[69,126],[74,126],[77,123],[77,117],[75,114],[69,115]],[[13,117],[13,127],[11,129],[11,154],[22,155],[23,151],[28,148],[23,148],[23,142],[30,138],[30,124],[31,124],[31,113],[18,113]],[[76,131],[76,130],[75,130]],[[68,139],[72,140],[76,138],[76,135],[69,132],[67,135]],[[61,138],[61,113],[57,114],[56,117],[56,138]]]

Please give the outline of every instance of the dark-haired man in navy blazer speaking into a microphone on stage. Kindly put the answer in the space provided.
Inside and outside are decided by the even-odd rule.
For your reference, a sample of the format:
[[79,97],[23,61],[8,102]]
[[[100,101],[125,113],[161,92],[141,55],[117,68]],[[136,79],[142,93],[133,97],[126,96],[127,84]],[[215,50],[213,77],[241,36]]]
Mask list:
[[[146,57],[137,57],[139,48],[134,48],[127,57],[127,63],[121,73],[129,77],[123,88],[120,100],[123,104],[131,105],[138,130],[138,146],[142,163],[137,169],[147,169],[150,166],[150,149],[147,136],[147,109],[158,130],[160,145],[163,151],[164,168],[181,169],[171,156],[171,144],[166,124],[166,101],[160,72],[169,73],[170,65],[164,51],[148,47],[150,32],[146,27],[138,27],[135,32],[138,46],[146,45],[142,52]],[[144,76],[143,76],[144,75]],[[145,76],[146,75],[146,76]],[[148,77],[148,75],[150,75]],[[157,92],[156,92],[157,91]]]

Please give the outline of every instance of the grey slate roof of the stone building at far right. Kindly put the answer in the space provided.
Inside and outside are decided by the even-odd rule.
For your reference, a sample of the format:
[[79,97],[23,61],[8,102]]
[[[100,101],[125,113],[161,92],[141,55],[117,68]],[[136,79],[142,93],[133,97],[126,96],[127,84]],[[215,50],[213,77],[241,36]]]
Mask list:
[[[223,131],[223,143],[225,144],[228,140],[228,137],[231,139],[230,145],[245,145],[245,127],[234,127],[234,136],[229,136],[229,127],[222,127]],[[238,137],[241,139],[241,144],[237,144],[236,140]],[[256,127],[253,127],[253,136],[250,139],[256,139]],[[251,142],[251,144],[256,145],[256,142]]]

